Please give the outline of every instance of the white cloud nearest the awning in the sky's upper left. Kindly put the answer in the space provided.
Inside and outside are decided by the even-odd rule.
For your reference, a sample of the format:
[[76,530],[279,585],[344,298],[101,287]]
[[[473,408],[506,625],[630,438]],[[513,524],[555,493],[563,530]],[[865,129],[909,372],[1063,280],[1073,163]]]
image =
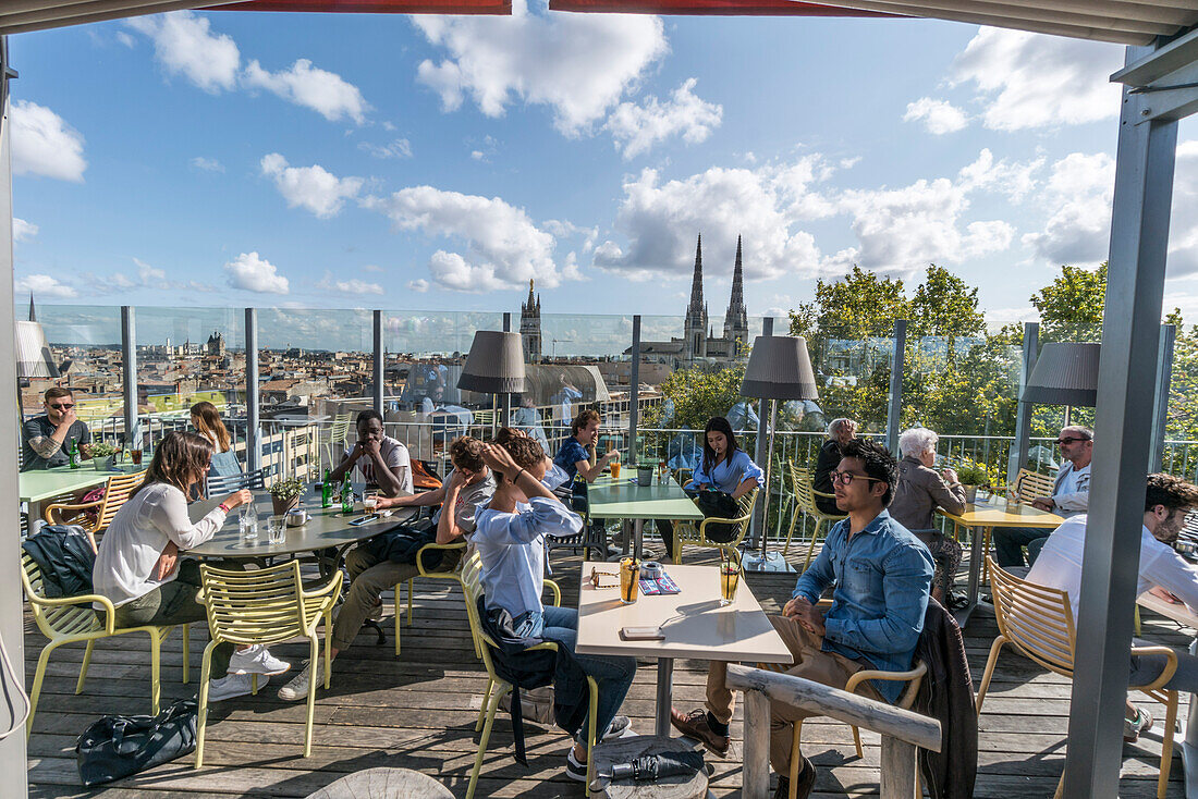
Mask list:
[[153,41],[155,55],[169,74],[182,74],[213,95],[236,86],[241,53],[231,36],[211,31],[207,17],[173,11],[126,24]]

